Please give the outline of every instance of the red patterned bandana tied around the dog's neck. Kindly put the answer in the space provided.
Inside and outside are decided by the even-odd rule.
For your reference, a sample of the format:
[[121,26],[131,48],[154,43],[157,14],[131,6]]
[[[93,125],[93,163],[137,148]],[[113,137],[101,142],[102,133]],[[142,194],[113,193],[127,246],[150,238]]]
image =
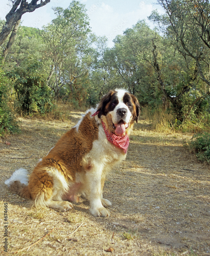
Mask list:
[[[91,116],[95,116],[98,113],[99,113],[99,111],[95,112]],[[104,124],[104,122],[102,120],[101,120],[101,123],[102,123],[103,130],[107,136],[108,141],[110,143],[112,143],[113,145],[115,145],[116,147],[122,148],[122,150],[126,154],[126,152],[128,150],[128,145],[129,145],[129,137],[128,137],[127,133],[124,136],[119,136],[114,133],[110,134],[109,131],[106,129],[106,125]]]

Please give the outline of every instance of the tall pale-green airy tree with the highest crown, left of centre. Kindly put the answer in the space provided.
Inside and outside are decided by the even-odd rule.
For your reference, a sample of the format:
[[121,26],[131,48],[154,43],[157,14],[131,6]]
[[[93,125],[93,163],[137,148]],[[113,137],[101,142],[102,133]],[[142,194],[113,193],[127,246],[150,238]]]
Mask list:
[[72,1],[67,9],[57,7],[54,11],[57,17],[43,26],[42,36],[51,61],[47,84],[56,98],[64,85],[73,90],[74,80],[87,72],[92,58],[85,6]]

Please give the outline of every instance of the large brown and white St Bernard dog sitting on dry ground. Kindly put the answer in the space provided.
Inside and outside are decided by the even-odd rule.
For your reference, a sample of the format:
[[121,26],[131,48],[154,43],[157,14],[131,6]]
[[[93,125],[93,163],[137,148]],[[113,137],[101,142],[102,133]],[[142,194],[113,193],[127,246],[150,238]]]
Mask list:
[[107,172],[126,157],[129,134],[138,121],[137,98],[123,89],[104,95],[37,163],[27,180],[18,169],[6,180],[9,189],[36,207],[66,211],[85,194],[94,216],[110,215],[111,202],[103,198]]

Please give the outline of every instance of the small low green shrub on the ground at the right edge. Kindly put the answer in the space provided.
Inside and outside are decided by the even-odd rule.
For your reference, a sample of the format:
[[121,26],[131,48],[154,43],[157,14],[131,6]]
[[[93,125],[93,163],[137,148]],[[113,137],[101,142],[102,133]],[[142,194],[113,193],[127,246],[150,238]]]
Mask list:
[[201,161],[210,162],[210,133],[193,135],[191,146]]

